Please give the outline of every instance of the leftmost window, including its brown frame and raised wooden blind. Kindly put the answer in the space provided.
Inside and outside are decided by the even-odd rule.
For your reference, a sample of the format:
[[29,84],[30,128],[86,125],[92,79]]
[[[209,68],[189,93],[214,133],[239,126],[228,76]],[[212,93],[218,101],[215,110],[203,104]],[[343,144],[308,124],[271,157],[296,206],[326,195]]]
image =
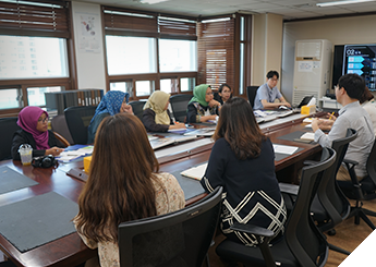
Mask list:
[[0,0],[0,117],[45,106],[45,92],[71,89],[75,76],[70,2]]

